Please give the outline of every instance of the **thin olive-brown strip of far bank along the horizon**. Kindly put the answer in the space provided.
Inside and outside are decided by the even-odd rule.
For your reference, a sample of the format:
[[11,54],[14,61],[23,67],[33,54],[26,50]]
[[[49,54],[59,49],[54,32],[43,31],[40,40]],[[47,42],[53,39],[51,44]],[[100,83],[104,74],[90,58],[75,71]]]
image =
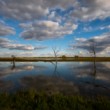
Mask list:
[[[55,57],[15,57],[17,62],[26,62],[26,61],[44,61],[51,62],[56,61]],[[0,57],[0,61],[13,61],[11,57]],[[58,57],[57,61],[94,61],[94,57]],[[110,62],[110,57],[96,57],[95,61],[97,62]]]

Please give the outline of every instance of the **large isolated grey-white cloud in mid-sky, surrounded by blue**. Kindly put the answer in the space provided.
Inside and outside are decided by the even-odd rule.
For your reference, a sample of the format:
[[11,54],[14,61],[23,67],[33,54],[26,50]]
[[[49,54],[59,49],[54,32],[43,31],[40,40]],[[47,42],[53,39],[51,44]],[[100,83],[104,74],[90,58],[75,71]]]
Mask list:
[[61,38],[67,34],[72,34],[77,25],[73,23],[65,23],[64,25],[58,22],[43,20],[29,24],[20,24],[24,29],[21,37],[24,39],[47,40],[53,38]]

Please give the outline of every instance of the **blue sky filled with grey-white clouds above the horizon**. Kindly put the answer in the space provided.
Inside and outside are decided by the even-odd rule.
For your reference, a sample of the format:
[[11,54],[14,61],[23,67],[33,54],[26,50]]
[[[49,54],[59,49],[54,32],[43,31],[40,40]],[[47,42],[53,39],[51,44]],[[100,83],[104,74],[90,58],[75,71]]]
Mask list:
[[110,56],[110,0],[0,0],[0,57]]

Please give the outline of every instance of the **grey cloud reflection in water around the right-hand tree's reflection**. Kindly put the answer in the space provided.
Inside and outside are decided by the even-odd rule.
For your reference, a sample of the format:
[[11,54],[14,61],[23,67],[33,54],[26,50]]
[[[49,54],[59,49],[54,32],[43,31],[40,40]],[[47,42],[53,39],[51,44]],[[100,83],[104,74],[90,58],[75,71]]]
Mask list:
[[74,67],[74,65],[71,65],[69,69],[73,71],[75,77],[79,78],[90,77],[106,81],[109,81],[110,79],[110,67],[107,67],[105,63],[96,63],[95,67],[92,63],[87,63],[80,67]]

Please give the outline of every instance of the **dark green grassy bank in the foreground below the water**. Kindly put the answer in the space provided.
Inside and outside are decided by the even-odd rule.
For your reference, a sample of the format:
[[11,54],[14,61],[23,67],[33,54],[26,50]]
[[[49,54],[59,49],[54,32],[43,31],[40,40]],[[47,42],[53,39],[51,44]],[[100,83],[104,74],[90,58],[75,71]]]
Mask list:
[[110,110],[110,100],[100,96],[46,95],[31,90],[0,94],[0,110]]

